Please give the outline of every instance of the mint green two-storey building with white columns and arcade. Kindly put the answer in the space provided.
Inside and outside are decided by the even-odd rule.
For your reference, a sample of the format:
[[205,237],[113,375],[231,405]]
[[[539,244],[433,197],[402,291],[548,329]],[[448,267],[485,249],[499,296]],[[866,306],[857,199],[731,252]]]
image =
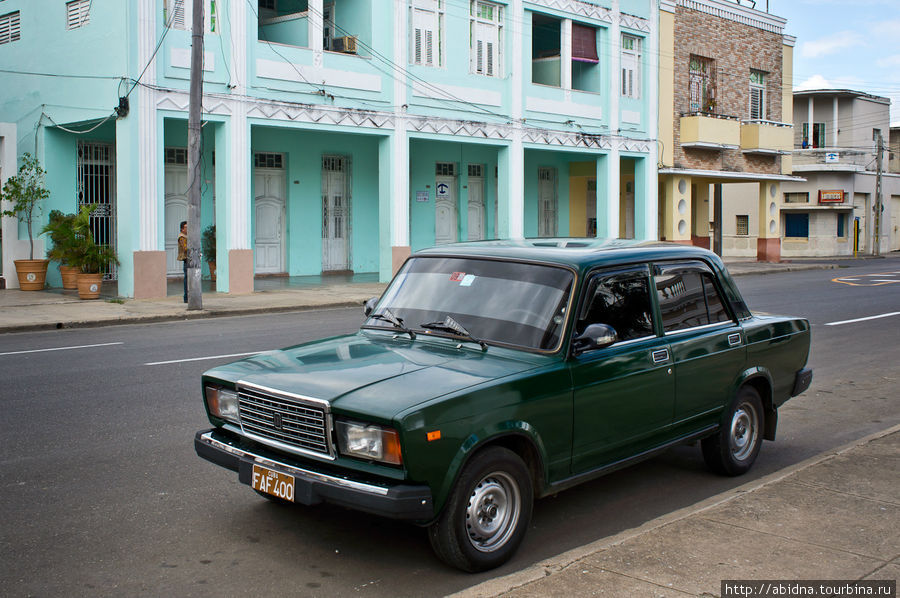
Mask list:
[[[39,157],[44,221],[96,205],[120,295],[181,274],[197,1],[218,291],[387,280],[470,239],[656,238],[658,0],[3,0],[0,174]],[[24,230],[4,219],[9,286]]]

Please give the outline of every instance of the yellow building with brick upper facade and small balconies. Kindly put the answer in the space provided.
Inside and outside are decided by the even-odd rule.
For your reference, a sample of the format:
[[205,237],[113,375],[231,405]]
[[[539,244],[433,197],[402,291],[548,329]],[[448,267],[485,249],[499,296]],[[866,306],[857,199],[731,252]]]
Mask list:
[[[780,259],[781,187],[795,180],[785,22],[724,0],[660,3],[661,239]],[[754,197],[732,220],[729,183]]]

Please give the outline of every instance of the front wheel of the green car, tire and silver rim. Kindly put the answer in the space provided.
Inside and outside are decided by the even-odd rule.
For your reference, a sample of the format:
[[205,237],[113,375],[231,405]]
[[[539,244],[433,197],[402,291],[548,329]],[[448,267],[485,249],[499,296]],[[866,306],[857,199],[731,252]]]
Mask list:
[[531,476],[509,449],[489,447],[463,468],[428,539],[438,557],[474,573],[505,563],[531,520]]

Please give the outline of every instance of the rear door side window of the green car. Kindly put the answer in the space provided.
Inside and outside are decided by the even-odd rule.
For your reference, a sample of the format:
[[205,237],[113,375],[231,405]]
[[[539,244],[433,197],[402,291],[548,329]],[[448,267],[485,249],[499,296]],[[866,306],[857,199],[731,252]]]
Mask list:
[[711,274],[664,270],[654,278],[664,331],[686,330],[731,319]]

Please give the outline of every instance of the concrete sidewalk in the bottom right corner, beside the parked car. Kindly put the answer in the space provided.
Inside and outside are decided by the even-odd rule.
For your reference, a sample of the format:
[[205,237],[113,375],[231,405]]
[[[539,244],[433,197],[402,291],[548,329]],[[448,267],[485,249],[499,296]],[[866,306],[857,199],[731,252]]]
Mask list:
[[898,490],[895,426],[453,596],[711,597],[722,580],[893,580],[896,591]]

